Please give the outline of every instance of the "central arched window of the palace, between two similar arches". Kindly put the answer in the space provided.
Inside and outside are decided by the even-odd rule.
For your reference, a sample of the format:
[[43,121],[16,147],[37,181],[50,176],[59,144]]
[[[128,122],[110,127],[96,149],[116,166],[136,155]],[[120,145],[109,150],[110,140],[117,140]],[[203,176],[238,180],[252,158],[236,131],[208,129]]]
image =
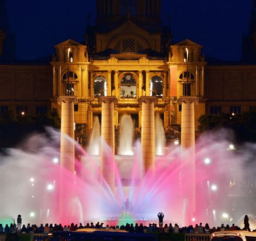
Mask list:
[[121,98],[136,98],[136,80],[131,74],[121,80]]

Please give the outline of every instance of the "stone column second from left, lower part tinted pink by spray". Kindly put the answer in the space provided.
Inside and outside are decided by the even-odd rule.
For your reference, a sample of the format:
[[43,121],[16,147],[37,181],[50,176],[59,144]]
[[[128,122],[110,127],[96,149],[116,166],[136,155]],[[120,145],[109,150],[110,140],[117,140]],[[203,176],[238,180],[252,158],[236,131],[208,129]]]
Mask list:
[[[114,190],[114,104],[117,98],[102,96],[98,99],[102,104],[102,139],[100,150],[100,173],[102,178]],[[106,146],[106,145],[107,146]]]

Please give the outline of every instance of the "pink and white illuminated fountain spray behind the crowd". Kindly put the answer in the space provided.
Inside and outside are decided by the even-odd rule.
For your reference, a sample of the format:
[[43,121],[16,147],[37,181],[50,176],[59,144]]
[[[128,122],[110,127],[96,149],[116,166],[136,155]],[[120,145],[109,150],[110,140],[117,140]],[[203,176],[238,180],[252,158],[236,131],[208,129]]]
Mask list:
[[[157,222],[158,212],[165,214],[164,222],[180,225],[239,222],[245,214],[255,215],[256,146],[230,150],[230,137],[230,132],[222,131],[198,139],[196,212],[192,213],[185,193],[191,183],[181,180],[190,170],[180,173],[186,163],[180,162],[179,146],[157,157],[156,171],[145,175],[139,143],[133,156],[110,158],[116,177],[112,192],[100,181],[99,158],[87,155],[78,144],[76,151],[82,153],[83,161],[76,160],[75,176],[53,162],[59,157],[60,133],[48,129],[47,134],[31,136],[19,149],[6,150],[1,156],[0,223],[1,217],[17,218],[18,214],[23,223],[37,224],[117,224],[120,219],[149,223]],[[60,210],[65,210],[61,217]]]

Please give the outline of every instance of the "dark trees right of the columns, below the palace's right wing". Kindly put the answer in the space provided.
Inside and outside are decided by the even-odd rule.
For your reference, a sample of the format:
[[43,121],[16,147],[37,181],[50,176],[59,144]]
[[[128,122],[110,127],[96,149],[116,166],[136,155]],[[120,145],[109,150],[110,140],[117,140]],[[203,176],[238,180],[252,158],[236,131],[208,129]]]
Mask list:
[[202,115],[199,117],[198,130],[205,132],[221,128],[232,129],[240,141],[256,141],[256,109],[242,114]]

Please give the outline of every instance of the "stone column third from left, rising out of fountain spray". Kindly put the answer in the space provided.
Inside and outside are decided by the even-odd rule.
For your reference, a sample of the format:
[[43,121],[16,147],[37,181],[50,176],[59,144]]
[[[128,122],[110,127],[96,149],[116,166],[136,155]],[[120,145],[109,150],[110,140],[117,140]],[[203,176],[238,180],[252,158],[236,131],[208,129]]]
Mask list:
[[154,104],[157,102],[153,96],[139,98],[139,104],[142,104],[142,158],[145,173],[155,169]]

